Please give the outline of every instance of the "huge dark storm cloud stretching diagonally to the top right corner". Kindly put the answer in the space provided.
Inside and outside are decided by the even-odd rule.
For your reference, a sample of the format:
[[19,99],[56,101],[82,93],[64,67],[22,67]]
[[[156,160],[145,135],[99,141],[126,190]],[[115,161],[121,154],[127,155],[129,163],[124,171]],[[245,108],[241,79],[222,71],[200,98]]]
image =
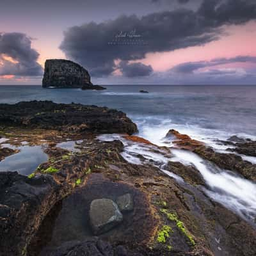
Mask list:
[[[115,60],[140,60],[148,52],[204,45],[218,40],[221,26],[243,24],[255,17],[256,3],[250,0],[204,0],[197,11],[183,8],[141,18],[123,15],[99,24],[74,26],[65,31],[60,49],[67,58],[88,68],[92,76],[104,76],[118,68]],[[133,29],[145,44],[108,44],[120,31]]]

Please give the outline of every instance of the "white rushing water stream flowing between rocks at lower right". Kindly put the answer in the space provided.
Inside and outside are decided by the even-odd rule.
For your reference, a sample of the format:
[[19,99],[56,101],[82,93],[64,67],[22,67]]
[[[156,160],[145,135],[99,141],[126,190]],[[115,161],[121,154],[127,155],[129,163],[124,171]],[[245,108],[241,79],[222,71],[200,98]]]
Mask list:
[[186,159],[202,174],[211,190],[212,199],[237,212],[243,218],[255,218],[256,184],[233,173],[220,170],[201,157],[184,150],[172,150],[179,159]]

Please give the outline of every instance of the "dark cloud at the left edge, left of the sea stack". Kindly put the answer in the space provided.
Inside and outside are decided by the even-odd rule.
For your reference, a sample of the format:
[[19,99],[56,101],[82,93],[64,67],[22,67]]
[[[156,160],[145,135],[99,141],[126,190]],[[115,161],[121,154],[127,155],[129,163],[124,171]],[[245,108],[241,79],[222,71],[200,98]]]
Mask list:
[[[6,56],[7,58],[4,58]],[[23,33],[0,34],[0,75],[40,76],[42,67],[36,62],[38,52],[31,48],[31,38]],[[10,61],[10,58],[12,58]]]

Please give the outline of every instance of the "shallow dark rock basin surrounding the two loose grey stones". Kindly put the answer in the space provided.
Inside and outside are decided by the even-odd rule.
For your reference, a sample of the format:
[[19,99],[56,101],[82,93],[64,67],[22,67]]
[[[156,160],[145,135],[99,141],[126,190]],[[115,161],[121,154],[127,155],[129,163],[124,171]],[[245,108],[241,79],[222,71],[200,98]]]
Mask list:
[[54,248],[68,241],[92,239],[94,235],[89,218],[91,202],[99,198],[116,202],[118,196],[127,193],[130,193],[136,202],[133,211],[125,212],[122,223],[99,235],[99,238],[115,244],[126,241],[134,246],[136,243],[147,242],[155,223],[150,214],[147,196],[133,186],[111,182],[101,174],[92,174],[83,187],[77,188],[48,214],[29,246],[28,255],[49,255]]

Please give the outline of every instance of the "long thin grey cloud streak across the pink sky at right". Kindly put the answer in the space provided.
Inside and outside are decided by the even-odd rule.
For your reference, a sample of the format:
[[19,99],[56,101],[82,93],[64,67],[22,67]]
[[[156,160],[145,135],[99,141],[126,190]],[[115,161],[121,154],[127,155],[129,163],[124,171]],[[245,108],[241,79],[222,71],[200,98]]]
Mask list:
[[253,56],[237,56],[235,58],[218,58],[211,61],[195,61],[186,62],[176,65],[171,70],[176,73],[189,74],[200,68],[214,67],[217,65],[224,65],[236,62],[251,62],[256,63],[256,57]]

